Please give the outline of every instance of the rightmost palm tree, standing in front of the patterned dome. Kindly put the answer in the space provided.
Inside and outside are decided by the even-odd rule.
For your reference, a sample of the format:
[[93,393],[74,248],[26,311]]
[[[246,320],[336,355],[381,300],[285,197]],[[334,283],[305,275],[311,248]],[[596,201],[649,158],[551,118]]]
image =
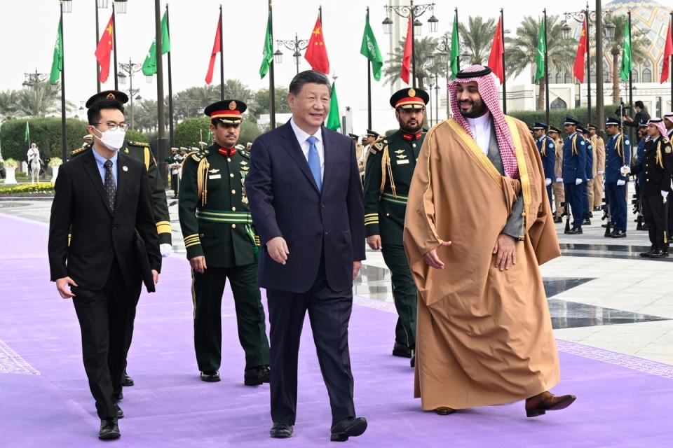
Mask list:
[[[622,44],[624,40],[624,25],[628,22],[626,15],[607,15],[604,18],[606,23],[615,26],[615,36],[613,38],[604,37],[605,53],[612,56],[612,102],[619,104],[620,97],[620,71]],[[647,48],[650,45],[650,39],[644,31],[631,27],[631,59],[632,64],[641,64],[645,61]]]

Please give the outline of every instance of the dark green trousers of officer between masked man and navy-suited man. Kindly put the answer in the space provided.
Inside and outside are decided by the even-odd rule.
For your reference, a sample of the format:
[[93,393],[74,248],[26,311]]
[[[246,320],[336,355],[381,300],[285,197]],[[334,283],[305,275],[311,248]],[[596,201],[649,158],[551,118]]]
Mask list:
[[226,279],[231,283],[245,368],[268,365],[268,339],[257,283],[257,263],[231,268],[208,267],[203,274],[192,271],[192,275],[194,349],[198,370],[219,370],[222,363],[222,294]]

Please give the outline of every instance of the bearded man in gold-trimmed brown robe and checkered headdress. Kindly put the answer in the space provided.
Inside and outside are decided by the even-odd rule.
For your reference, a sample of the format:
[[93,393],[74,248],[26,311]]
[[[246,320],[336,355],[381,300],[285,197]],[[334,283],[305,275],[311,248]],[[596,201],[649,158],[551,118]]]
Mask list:
[[415,396],[424,410],[526,399],[564,409],[538,266],[560,255],[540,154],[503,115],[491,69],[449,84],[454,118],[428,132],[409,190],[405,248],[419,290]]

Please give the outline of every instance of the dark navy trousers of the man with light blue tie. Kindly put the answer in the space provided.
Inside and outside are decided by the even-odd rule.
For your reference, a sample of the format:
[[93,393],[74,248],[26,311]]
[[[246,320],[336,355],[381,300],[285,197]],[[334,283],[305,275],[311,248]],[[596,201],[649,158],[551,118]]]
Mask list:
[[308,310],[322,379],[332,407],[332,425],[355,416],[353,374],[348,352],[351,289],[334,291],[327,284],[325,260],[306,293],[266,290],[271,323],[271,419],[294,425],[297,416],[297,357]]

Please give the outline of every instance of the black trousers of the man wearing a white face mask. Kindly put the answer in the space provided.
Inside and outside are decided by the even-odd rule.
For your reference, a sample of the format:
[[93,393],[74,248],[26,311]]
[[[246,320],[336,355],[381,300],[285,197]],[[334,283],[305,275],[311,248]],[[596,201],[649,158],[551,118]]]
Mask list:
[[116,416],[113,405],[121,393],[141,285],[139,276],[137,285],[129,288],[115,259],[104,288],[71,288],[82,334],[84,370],[101,419]]

